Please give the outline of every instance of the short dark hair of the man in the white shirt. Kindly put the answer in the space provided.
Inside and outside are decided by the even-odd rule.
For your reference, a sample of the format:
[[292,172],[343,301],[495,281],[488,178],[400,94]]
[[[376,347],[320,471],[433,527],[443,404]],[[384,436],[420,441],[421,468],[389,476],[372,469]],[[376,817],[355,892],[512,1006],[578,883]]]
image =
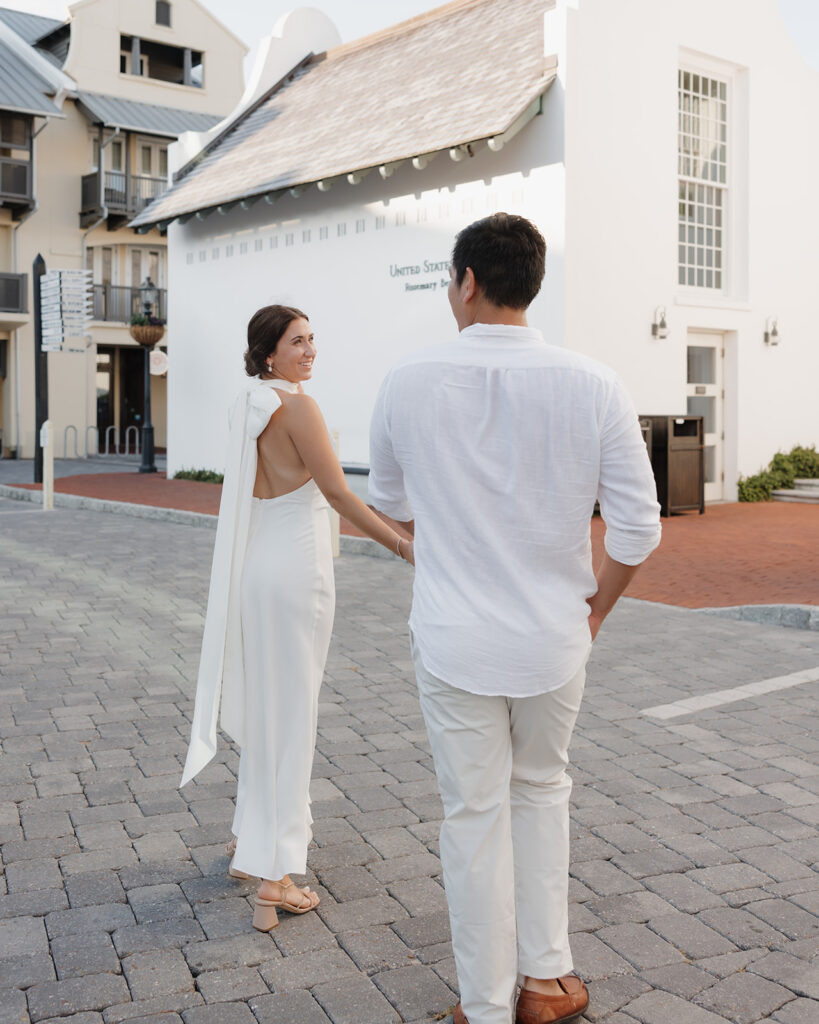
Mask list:
[[452,267],[459,285],[468,266],[489,302],[526,309],[546,273],[546,242],[525,217],[493,213],[465,227],[455,240]]

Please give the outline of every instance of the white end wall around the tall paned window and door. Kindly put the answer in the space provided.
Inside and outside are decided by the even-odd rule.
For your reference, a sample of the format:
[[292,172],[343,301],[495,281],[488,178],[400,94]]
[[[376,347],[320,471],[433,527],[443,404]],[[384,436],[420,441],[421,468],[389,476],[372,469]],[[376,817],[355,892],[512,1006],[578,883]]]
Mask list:
[[[677,413],[686,408],[687,332],[725,332],[730,498],[737,472],[819,441],[819,134],[806,130],[819,119],[819,73],[801,58],[776,0],[755,0],[752,16],[745,0],[567,6],[567,341],[606,361],[616,353],[641,412]],[[704,300],[677,285],[681,52],[733,77],[731,284]],[[650,335],[658,305],[664,341]],[[771,315],[777,348],[763,341]]]

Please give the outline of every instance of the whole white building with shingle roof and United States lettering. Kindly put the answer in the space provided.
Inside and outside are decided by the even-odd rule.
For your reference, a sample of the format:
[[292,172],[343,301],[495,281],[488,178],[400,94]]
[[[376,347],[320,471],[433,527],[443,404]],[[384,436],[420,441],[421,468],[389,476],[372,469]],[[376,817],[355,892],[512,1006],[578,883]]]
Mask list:
[[819,74],[776,0],[456,0],[343,46],[299,11],[266,60],[133,222],[168,229],[169,472],[220,466],[270,302],[308,312],[311,393],[365,464],[388,367],[456,330],[454,236],[495,210],[547,239],[547,340],[642,414],[705,416],[707,500],[817,441]]

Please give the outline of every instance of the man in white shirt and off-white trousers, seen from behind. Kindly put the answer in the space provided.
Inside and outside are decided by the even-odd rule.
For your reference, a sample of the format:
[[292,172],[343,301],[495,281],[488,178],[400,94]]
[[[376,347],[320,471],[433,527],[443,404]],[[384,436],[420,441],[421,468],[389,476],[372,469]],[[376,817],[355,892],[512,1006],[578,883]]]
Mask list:
[[460,337],[389,373],[371,432],[371,503],[416,541],[411,640],[444,808],[456,1024],[511,1024],[519,976],[519,1024],[586,1009],[569,974],[567,752],[591,643],[660,535],[618,378],[526,325],[545,259],[522,217],[461,231]]

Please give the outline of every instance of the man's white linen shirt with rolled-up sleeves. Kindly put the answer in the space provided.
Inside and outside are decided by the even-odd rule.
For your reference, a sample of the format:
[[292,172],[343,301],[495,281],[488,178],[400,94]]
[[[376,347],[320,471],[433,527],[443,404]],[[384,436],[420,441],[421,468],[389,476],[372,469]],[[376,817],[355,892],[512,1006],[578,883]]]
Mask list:
[[370,437],[370,502],[415,519],[410,626],[424,667],[532,696],[588,656],[595,499],[627,565],[659,544],[637,414],[607,367],[540,331],[475,324],[395,366]]

